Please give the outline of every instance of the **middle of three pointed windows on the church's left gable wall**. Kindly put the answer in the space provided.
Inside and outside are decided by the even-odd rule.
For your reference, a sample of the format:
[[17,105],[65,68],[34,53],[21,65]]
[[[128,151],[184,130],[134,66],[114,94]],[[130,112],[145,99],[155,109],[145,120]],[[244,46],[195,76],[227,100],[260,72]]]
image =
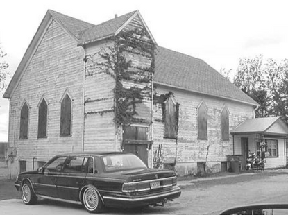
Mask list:
[[42,99],[38,110],[38,138],[47,137],[47,103],[45,99]]

